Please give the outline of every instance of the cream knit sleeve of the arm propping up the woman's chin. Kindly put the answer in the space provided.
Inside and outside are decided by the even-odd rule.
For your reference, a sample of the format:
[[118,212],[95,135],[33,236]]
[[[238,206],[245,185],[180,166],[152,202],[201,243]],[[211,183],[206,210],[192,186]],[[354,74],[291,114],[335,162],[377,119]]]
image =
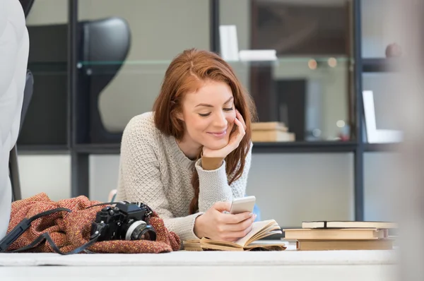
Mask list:
[[196,170],[199,174],[199,211],[206,212],[218,201],[232,201],[232,198],[245,196],[247,186],[247,175],[249,174],[250,162],[252,160],[252,143],[246,155],[245,168],[239,179],[228,184],[225,171],[225,161],[214,170],[205,170],[201,167],[201,159],[196,162]]

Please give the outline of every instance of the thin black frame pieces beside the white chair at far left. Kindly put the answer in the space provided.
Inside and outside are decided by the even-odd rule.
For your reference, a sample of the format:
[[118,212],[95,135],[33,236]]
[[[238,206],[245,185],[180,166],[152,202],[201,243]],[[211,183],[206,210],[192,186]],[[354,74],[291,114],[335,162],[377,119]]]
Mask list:
[[[31,99],[33,98],[33,85],[34,78],[31,71],[27,70],[25,88],[23,90],[23,104],[22,111],[20,112],[20,126],[19,133],[22,129],[23,120],[25,115],[28,112],[28,107],[30,105]],[[19,167],[18,167],[18,149],[16,145],[13,146],[11,153],[9,155],[9,177],[11,178],[12,186],[12,196],[13,201],[22,199],[22,193],[20,191],[20,180],[19,180]]]

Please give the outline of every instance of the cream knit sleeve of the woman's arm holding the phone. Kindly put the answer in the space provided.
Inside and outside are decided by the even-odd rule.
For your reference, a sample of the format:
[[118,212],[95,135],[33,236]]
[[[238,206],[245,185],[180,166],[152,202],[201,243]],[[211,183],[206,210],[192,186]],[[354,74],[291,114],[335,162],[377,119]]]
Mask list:
[[[202,213],[175,217],[160,179],[158,157],[153,149],[153,139],[143,136],[140,130],[126,128],[122,136],[120,173],[124,189],[118,190],[117,200],[141,202],[152,208],[163,219],[165,227],[175,232],[181,241],[197,239],[194,222]],[[119,194],[122,192],[122,194]]]

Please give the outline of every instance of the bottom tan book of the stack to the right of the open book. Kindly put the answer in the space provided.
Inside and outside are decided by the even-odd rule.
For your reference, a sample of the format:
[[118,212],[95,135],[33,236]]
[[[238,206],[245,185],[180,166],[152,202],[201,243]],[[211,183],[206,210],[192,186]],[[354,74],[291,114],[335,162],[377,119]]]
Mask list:
[[365,240],[298,240],[298,251],[334,251],[334,250],[391,250],[392,239]]

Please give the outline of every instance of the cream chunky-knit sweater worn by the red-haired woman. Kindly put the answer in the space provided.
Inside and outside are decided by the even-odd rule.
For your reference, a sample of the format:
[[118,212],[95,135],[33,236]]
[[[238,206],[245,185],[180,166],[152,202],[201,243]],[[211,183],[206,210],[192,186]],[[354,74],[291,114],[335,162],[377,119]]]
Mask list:
[[[135,116],[122,136],[117,201],[142,202],[163,218],[165,226],[184,241],[196,239],[194,221],[218,201],[245,196],[252,145],[240,179],[228,185],[225,162],[216,170],[204,170],[201,160],[190,160],[172,136],[154,124],[153,112]],[[192,165],[199,174],[199,213],[189,215],[194,196]]]

